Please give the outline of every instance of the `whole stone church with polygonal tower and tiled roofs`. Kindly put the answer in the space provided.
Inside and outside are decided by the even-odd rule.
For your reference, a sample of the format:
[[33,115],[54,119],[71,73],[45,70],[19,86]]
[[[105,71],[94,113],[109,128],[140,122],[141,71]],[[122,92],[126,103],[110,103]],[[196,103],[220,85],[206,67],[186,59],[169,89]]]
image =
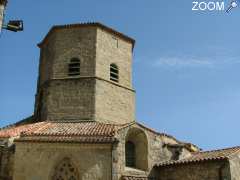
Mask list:
[[240,180],[240,147],[202,151],[135,118],[135,40],[53,26],[32,116],[0,129],[0,180]]

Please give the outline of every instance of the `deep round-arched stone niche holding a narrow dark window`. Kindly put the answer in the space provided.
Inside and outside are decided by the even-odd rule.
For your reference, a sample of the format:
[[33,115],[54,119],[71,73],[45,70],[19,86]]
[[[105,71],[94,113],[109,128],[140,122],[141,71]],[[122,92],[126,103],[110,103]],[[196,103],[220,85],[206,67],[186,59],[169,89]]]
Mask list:
[[[131,159],[127,159],[129,157]],[[139,128],[130,128],[127,132],[125,138],[125,165],[136,169],[148,170],[148,140],[145,132]]]

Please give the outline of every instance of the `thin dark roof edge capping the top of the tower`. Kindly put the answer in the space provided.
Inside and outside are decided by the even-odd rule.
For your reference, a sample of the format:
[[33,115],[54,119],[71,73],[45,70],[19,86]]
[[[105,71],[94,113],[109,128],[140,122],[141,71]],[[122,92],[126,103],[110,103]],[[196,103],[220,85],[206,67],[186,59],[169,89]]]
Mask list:
[[[2,1],[2,0],[0,0]],[[126,41],[129,41],[132,46],[134,47],[135,40],[121,32],[118,32],[108,26],[103,25],[102,23],[99,22],[87,22],[87,23],[78,23],[78,24],[65,24],[65,25],[55,25],[53,26],[50,31],[47,33],[45,38],[38,44],[38,47],[41,47],[45,42],[48,41],[48,37],[55,31],[60,30],[60,29],[72,29],[72,28],[79,28],[79,27],[99,27],[104,29],[105,31],[112,33]]]

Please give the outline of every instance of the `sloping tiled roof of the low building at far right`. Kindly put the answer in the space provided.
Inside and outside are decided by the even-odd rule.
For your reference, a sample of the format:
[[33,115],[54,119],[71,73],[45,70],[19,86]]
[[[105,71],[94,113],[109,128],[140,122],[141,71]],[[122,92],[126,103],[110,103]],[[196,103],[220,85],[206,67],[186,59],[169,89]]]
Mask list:
[[232,147],[227,149],[213,150],[213,151],[202,151],[192,153],[192,156],[177,161],[165,161],[158,164],[158,167],[171,166],[178,164],[188,164],[188,163],[198,163],[204,161],[213,161],[213,160],[226,160],[234,155],[235,153],[240,152],[240,147]]

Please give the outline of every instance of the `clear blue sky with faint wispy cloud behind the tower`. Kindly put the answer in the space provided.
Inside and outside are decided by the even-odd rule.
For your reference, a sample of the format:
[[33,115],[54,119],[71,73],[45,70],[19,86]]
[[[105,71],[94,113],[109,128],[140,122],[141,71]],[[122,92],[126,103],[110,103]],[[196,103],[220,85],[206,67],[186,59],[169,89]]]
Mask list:
[[138,121],[203,149],[240,145],[240,8],[192,11],[191,0],[9,1],[6,20],[23,19],[25,30],[0,37],[0,126],[32,114],[36,44],[50,27],[99,21],[136,39]]

